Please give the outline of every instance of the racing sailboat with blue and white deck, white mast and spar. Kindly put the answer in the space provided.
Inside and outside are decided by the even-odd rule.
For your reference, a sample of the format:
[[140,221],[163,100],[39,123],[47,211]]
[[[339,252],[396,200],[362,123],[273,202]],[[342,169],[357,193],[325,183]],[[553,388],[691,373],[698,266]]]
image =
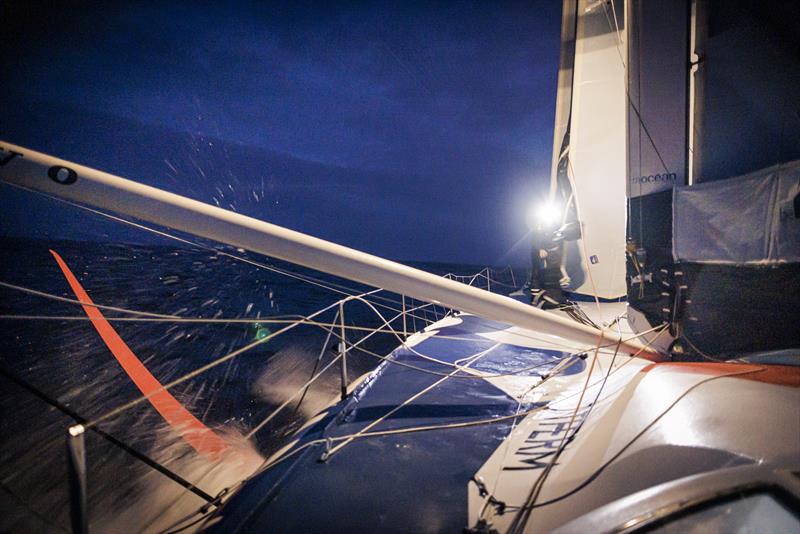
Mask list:
[[[737,138],[753,150],[719,133],[726,61],[772,54],[777,74],[742,83],[774,89],[797,60],[750,39],[780,17],[738,7],[565,0],[550,196],[579,232],[557,239],[568,300],[550,311],[0,143],[15,187],[401,296],[399,346],[353,381],[345,305],[369,295],[333,306],[341,395],[173,530],[800,531],[798,126],[757,106]],[[444,316],[409,332],[406,299]],[[80,440],[101,428],[69,429],[76,531]]]

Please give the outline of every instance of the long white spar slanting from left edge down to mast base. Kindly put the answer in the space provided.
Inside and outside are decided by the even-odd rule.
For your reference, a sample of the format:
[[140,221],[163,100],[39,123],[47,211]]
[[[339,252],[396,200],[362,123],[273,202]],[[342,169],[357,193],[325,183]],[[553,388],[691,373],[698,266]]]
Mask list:
[[[591,347],[599,331],[401,263],[0,141],[0,180]],[[616,343],[603,332],[604,344]],[[660,358],[637,339],[623,352]]]

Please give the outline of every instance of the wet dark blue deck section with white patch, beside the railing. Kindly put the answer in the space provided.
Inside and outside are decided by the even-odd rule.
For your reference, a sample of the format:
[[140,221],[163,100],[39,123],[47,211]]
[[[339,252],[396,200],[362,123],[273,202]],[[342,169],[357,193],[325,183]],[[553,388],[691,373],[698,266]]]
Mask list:
[[[624,303],[602,308],[606,317],[593,320],[610,322]],[[224,530],[459,531],[483,507],[473,476],[525,415],[580,387],[592,350],[471,315],[445,318],[268,460],[225,506]],[[559,384],[545,396],[535,386],[554,370],[548,383]],[[526,458],[505,460],[529,466]]]

